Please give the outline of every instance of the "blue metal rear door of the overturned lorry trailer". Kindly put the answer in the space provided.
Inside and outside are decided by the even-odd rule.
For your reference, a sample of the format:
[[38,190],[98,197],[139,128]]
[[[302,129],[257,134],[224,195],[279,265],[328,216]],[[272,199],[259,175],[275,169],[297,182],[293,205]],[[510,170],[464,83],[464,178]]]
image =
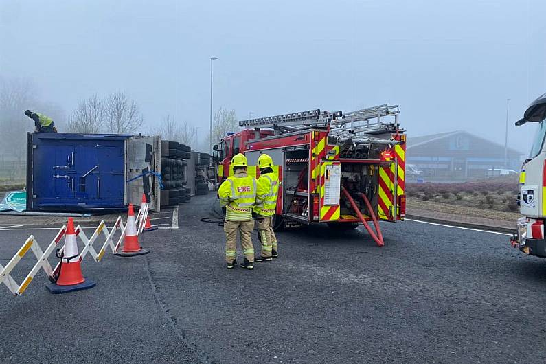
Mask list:
[[34,135],[32,209],[124,208],[125,139]]

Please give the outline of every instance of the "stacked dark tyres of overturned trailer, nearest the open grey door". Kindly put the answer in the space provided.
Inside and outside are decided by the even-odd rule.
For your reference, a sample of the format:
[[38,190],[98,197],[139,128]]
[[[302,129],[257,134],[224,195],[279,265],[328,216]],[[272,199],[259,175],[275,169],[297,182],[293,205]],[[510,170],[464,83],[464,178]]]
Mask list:
[[161,206],[176,206],[192,198],[185,177],[185,159],[192,156],[190,151],[190,146],[178,141],[161,141]]

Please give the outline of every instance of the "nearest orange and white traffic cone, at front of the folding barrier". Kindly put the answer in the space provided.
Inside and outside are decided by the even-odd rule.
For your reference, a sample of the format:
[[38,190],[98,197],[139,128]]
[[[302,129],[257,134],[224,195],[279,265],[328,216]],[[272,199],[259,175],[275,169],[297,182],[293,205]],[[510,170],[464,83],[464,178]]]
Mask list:
[[56,282],[47,286],[51,293],[67,293],[95,286],[95,282],[86,280],[82,274],[73,218],[68,218],[65,249],[57,256],[60,258],[59,273]]

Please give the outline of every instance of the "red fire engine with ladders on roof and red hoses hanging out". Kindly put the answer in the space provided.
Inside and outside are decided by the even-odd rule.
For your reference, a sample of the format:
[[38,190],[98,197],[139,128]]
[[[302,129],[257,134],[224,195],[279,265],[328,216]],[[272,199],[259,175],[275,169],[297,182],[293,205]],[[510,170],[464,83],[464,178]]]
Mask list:
[[214,147],[218,182],[233,173],[229,163],[238,152],[258,177],[258,157],[267,153],[281,182],[277,226],[352,229],[363,223],[383,245],[378,221],[405,216],[406,136],[398,112],[398,105],[384,104],[345,114],[317,109],[243,120],[245,130]]

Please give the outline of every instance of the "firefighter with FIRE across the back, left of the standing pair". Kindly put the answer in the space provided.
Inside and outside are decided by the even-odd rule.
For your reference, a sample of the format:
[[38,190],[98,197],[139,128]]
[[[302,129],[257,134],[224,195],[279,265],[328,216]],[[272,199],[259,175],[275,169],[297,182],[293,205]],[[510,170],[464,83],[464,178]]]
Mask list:
[[234,175],[228,177],[218,190],[220,205],[226,208],[224,231],[226,236],[225,260],[227,269],[237,266],[237,231],[241,237],[245,269],[254,268],[254,247],[251,233],[254,229],[252,207],[256,200],[256,179],[247,174],[247,157],[241,153],[231,159]]

